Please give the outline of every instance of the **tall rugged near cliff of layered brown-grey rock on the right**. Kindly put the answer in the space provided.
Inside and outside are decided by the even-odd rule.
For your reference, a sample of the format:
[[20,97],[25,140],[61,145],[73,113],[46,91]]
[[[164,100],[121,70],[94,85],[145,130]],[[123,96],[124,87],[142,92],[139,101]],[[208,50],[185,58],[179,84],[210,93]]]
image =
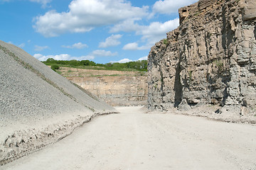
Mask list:
[[256,1],[200,0],[149,53],[148,107],[250,114],[256,106]]

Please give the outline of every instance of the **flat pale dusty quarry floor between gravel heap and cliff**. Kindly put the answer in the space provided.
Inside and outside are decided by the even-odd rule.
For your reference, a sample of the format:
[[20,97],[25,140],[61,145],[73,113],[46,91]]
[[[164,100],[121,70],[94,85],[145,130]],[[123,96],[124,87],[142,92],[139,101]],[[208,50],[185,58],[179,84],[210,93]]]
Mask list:
[[256,126],[119,107],[0,169],[256,169]]

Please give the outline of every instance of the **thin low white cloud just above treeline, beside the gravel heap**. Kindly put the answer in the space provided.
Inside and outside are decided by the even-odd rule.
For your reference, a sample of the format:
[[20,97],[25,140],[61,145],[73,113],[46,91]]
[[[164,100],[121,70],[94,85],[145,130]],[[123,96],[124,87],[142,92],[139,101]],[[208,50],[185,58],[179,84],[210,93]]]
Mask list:
[[92,55],[80,56],[80,57],[73,57],[68,54],[61,54],[61,55],[41,55],[35,54],[33,55],[36,59],[40,61],[46,61],[48,58],[53,58],[54,60],[93,60],[95,59]]

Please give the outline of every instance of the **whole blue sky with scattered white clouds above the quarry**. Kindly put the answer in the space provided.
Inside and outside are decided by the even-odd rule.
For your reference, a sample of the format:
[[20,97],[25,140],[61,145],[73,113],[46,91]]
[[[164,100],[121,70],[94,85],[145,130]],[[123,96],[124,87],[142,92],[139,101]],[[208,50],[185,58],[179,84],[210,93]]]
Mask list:
[[146,60],[197,0],[0,0],[1,40],[38,60]]

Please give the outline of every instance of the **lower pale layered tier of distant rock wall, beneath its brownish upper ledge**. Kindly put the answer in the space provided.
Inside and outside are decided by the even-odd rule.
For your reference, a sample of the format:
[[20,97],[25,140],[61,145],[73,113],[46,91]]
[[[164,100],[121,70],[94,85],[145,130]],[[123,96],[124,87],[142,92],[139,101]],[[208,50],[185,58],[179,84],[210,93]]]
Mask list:
[[145,106],[146,76],[67,77],[110,106]]

